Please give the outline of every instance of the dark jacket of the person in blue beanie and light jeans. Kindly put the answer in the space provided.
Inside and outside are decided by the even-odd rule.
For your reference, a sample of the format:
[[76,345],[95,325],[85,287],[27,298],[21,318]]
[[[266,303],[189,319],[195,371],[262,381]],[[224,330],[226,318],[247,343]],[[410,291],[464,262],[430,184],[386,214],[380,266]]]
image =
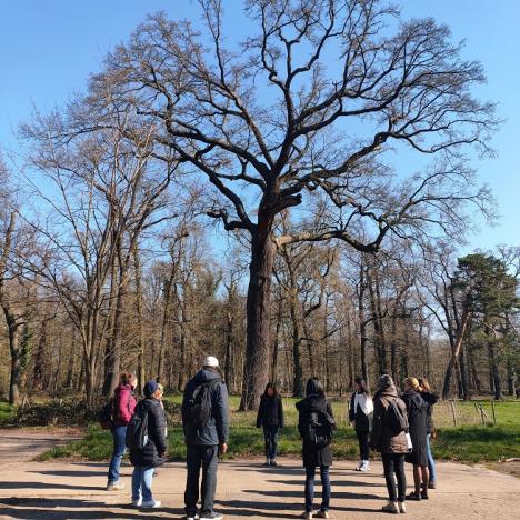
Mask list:
[[130,462],[133,466],[157,467],[164,463],[167,451],[164,410],[156,398],[147,398],[136,407],[134,413],[148,413],[148,443],[144,448],[130,449]]

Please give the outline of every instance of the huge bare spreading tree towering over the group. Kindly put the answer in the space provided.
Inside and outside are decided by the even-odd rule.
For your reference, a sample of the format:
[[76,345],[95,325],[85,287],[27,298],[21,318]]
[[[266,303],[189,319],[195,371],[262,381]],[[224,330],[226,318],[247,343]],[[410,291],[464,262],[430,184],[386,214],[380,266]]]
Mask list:
[[[139,127],[152,126],[154,141],[206,179],[207,213],[249,236],[247,410],[268,377],[277,244],[334,238],[374,251],[392,233],[460,230],[464,203],[484,209],[487,197],[472,191],[462,151],[489,152],[497,121],[471,94],[481,66],[432,19],[403,21],[380,0],[246,1],[252,36],[232,47],[221,0],[199,4],[204,36],[189,21],[150,17],[54,134],[110,126],[110,111],[132,107]],[[392,144],[442,160],[396,178]],[[320,224],[274,237],[280,212],[302,203],[319,203]]]

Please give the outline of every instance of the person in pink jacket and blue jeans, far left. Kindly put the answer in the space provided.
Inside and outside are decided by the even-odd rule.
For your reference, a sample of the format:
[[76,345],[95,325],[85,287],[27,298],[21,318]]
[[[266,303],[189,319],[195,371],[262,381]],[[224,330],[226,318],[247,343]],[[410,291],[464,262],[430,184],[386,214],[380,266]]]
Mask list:
[[119,378],[119,384],[113,392],[112,399],[112,433],[113,449],[108,471],[107,491],[120,491],[124,489],[124,482],[121,482],[119,470],[121,461],[127,451],[124,438],[127,426],[136,408],[136,397],[133,390],[137,387],[137,378],[132,373],[123,372]]

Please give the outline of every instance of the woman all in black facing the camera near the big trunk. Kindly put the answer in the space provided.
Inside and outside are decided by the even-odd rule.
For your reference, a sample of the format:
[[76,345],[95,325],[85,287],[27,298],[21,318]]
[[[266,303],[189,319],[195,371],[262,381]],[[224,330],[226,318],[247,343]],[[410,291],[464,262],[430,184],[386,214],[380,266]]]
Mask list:
[[266,466],[277,464],[278,432],[283,428],[283,406],[272,382],[268,382],[260,397],[258,407],[257,428],[263,428],[266,441]]

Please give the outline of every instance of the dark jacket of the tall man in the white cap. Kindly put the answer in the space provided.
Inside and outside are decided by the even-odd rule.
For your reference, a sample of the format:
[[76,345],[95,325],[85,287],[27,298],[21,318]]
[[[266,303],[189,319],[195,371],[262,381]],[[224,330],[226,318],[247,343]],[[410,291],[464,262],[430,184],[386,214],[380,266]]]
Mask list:
[[[210,386],[211,417],[206,424],[197,427],[186,420],[189,402],[196,388],[210,381],[213,381]],[[182,400],[182,426],[184,428],[184,440],[187,444],[217,446],[222,442],[228,442],[228,389],[217,372],[203,369],[197,372],[197,374],[188,381],[184,389],[184,398]]]

